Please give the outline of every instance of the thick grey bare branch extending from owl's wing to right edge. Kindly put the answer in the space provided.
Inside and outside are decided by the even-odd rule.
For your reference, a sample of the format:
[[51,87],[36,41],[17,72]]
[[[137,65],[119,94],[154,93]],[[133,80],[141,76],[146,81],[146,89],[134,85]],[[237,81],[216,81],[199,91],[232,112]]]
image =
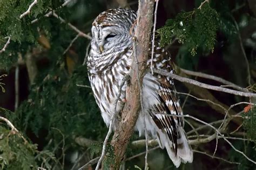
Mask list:
[[215,90],[215,91],[230,93],[230,94],[234,94],[234,95],[237,95],[237,96],[256,97],[255,93],[235,91],[235,90],[231,90],[231,89],[226,89],[224,87],[208,85],[208,84],[196,81],[196,80],[192,80],[192,79],[185,78],[185,77],[180,77],[180,76],[178,76],[176,74],[173,74],[173,73],[170,73],[170,72],[166,72],[164,70],[153,69],[153,71],[158,73],[158,74],[161,74],[163,76],[171,77],[171,78],[179,80],[181,82],[190,83],[190,84],[193,84],[193,85],[196,85],[196,86],[199,86],[199,87],[203,87],[205,89],[211,89],[211,90]]

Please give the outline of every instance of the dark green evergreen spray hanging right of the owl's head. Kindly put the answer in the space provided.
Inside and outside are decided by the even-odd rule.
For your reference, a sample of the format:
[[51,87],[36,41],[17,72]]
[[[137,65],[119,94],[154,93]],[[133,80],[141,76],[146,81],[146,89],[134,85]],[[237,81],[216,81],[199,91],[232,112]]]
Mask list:
[[190,12],[181,12],[174,19],[167,20],[165,26],[158,30],[161,41],[165,46],[174,37],[187,48],[194,56],[201,46],[205,50],[213,51],[216,31],[219,28],[219,15],[208,3]]

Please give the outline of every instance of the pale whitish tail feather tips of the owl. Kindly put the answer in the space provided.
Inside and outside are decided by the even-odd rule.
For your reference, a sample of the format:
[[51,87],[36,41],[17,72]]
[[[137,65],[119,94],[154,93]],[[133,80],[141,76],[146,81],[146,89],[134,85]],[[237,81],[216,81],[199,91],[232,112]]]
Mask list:
[[183,128],[178,126],[177,132],[177,154],[174,153],[174,149],[172,148],[173,145],[168,135],[163,131],[157,130],[157,141],[162,149],[166,148],[170,159],[178,168],[180,166],[180,162],[191,163],[193,161],[193,151],[190,144],[188,144],[188,139]]

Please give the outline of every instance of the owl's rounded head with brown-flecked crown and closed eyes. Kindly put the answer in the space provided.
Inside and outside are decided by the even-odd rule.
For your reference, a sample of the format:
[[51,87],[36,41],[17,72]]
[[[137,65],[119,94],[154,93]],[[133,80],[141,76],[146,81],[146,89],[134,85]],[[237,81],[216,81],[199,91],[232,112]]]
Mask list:
[[98,54],[117,52],[131,46],[130,28],[136,19],[131,9],[110,9],[92,23],[91,49]]

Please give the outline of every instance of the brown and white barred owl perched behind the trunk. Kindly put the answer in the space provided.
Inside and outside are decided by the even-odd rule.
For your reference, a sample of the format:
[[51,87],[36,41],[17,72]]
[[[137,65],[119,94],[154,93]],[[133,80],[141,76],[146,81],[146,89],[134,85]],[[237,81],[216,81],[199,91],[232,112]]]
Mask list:
[[[136,13],[130,9],[110,9],[100,13],[92,23],[87,69],[93,94],[107,126],[114,114],[118,87],[123,77],[129,74],[133,55],[130,28],[136,18]],[[147,65],[150,66],[150,63],[151,59]],[[173,72],[169,54],[159,45],[154,47],[153,67]],[[118,99],[118,111],[126,101],[126,87],[127,83],[122,87]],[[183,118],[166,116],[183,114],[173,93],[172,79],[149,71],[144,76],[142,89],[147,132],[152,138],[157,138],[162,149],[166,148],[176,167],[179,167],[180,162],[192,162],[193,153],[183,130]],[[139,135],[144,133],[143,119],[140,112],[135,126]],[[113,128],[116,128],[117,121],[113,120]]]

